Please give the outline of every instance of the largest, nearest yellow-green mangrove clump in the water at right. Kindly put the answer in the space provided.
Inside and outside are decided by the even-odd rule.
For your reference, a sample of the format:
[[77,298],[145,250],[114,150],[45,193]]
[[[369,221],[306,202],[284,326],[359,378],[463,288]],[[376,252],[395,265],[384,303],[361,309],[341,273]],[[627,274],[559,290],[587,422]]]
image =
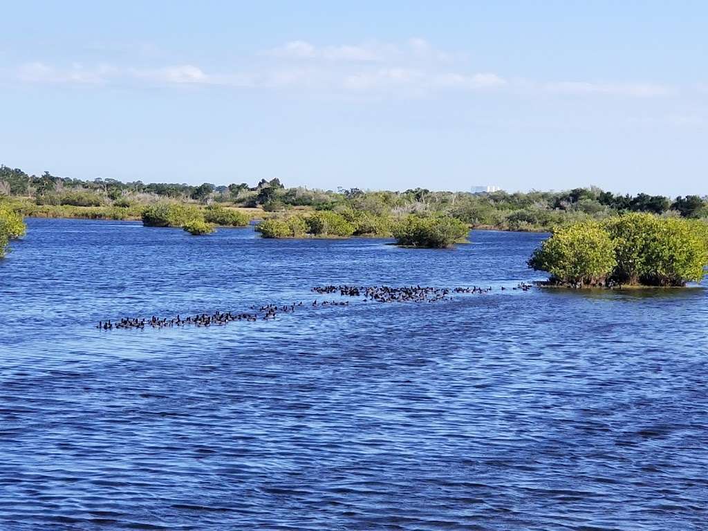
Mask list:
[[683,286],[708,265],[708,225],[628,214],[557,229],[530,258],[557,285]]

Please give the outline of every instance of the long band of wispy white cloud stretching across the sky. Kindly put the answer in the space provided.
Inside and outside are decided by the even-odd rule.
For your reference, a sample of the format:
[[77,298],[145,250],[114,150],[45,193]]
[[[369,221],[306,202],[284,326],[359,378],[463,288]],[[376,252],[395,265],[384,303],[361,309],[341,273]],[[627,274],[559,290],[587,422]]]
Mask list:
[[476,72],[463,55],[442,52],[426,40],[387,43],[314,45],[293,40],[244,57],[240,69],[210,71],[198,64],[151,64],[136,67],[101,63],[93,67],[45,62],[20,65],[15,78],[37,84],[227,86],[297,89],[334,95],[435,96],[457,93],[539,93],[552,96],[656,98],[677,93],[665,84],[624,81],[543,81],[496,72]]

